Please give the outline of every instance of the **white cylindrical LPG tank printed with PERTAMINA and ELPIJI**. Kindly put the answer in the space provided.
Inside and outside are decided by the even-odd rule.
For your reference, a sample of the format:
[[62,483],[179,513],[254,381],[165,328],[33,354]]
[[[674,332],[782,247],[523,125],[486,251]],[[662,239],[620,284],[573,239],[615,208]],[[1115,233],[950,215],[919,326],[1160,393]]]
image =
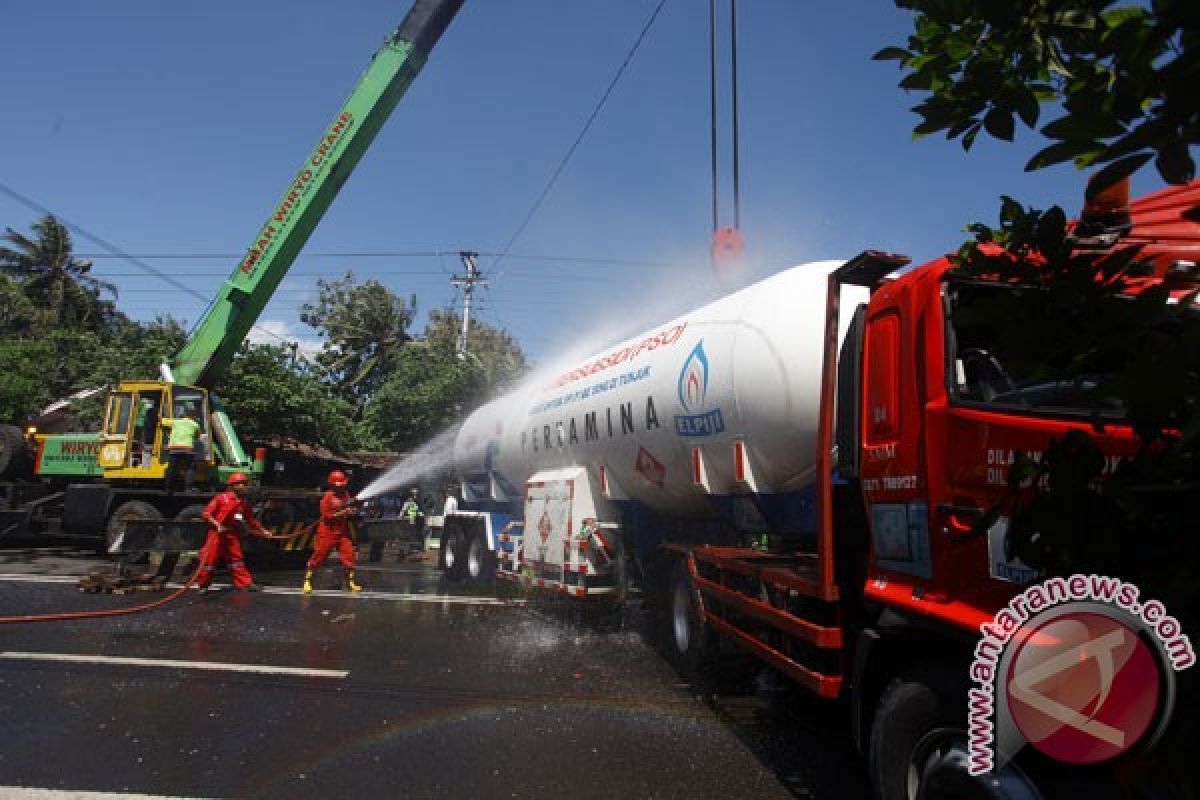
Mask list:
[[[827,278],[785,270],[475,411],[460,474],[520,492],[536,471],[587,468],[596,486],[668,513],[708,494],[780,493],[815,477]],[[839,338],[866,290],[844,287]]]

